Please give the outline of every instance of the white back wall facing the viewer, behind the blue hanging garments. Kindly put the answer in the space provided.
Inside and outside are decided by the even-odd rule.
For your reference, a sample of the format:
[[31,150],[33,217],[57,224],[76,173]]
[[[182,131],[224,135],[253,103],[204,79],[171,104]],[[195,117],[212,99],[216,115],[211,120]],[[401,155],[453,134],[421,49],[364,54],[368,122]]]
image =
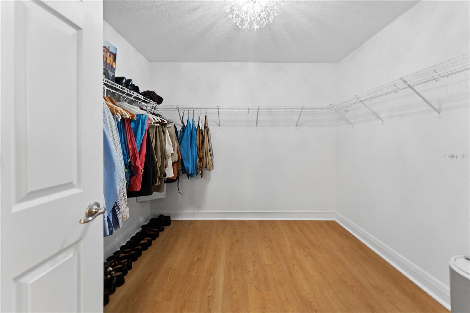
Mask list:
[[[163,104],[171,105],[319,105],[337,86],[335,64],[151,63],[150,77]],[[178,119],[175,112],[164,115]],[[219,129],[217,114],[210,114],[214,171],[202,179],[180,179],[184,196],[176,184],[167,185],[166,198],[152,201],[151,210],[173,216],[178,211],[221,211],[222,216],[334,211],[336,128],[295,129],[298,112],[283,121],[289,124],[275,126],[274,115],[260,114],[255,129],[256,112],[222,112]]]

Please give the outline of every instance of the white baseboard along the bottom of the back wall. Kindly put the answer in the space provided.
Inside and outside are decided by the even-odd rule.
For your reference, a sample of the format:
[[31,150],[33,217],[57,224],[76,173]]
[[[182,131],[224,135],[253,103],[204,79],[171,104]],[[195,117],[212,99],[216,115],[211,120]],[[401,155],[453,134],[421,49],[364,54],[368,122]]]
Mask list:
[[321,219],[334,220],[335,211],[152,211],[152,217],[172,219]]

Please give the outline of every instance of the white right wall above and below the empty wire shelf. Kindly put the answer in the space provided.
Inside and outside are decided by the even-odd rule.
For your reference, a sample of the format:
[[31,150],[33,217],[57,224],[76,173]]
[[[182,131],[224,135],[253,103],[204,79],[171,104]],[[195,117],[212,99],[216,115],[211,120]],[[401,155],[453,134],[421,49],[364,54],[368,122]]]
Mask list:
[[[468,1],[421,1],[338,64],[338,97],[466,52],[469,38]],[[444,158],[470,152],[468,75],[463,88],[431,86],[418,89],[440,120],[428,109],[338,127],[337,212],[448,288],[449,259],[470,253],[469,160]]]

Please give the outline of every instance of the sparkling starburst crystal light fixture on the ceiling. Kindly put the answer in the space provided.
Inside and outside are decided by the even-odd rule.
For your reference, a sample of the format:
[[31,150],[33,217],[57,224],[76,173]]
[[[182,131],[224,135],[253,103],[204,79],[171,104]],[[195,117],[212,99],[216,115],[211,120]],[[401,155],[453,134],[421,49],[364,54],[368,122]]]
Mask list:
[[283,6],[280,0],[229,0],[225,7],[228,17],[240,28],[255,30],[273,22],[276,10]]

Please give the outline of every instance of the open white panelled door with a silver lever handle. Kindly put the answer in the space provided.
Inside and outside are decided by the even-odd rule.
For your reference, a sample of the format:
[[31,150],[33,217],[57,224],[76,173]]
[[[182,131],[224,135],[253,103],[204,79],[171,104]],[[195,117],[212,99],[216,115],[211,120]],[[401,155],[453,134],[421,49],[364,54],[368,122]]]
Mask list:
[[0,311],[102,311],[102,2],[0,1]]

